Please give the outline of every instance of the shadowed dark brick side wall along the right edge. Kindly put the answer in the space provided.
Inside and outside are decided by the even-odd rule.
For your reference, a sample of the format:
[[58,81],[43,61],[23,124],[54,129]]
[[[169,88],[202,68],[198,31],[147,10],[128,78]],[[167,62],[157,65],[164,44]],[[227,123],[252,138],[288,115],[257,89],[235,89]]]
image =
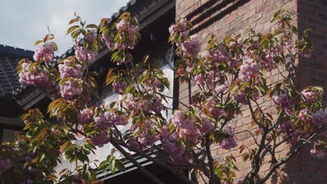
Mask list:
[[[301,59],[298,67],[298,86],[323,86],[327,92],[327,1],[298,0],[298,28],[312,29],[310,38],[314,43],[312,59]],[[327,104],[327,95],[324,98]],[[310,157],[305,148],[301,155],[301,169],[305,183],[327,183],[327,159]]]

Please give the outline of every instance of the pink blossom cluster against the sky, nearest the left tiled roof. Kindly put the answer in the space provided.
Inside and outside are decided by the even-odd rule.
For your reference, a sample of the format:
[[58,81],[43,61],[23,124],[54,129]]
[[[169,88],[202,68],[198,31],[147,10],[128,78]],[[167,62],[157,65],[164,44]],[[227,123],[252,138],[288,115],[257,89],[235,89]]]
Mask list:
[[40,43],[33,56],[34,61],[51,63],[54,59],[54,45],[52,43]]

